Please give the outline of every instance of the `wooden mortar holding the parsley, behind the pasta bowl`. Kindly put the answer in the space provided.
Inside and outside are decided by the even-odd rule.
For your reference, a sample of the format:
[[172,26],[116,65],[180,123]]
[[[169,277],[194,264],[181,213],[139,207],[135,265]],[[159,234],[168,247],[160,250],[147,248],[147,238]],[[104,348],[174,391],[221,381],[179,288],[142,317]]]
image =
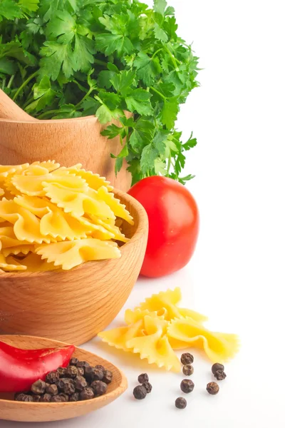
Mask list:
[[[14,104],[13,101],[11,103]],[[16,111],[18,110],[19,108]],[[82,163],[83,168],[107,178],[115,188],[124,192],[129,190],[132,177],[127,171],[127,163],[123,163],[123,168],[115,177],[115,159],[110,157],[110,153],[116,156],[122,150],[120,138],[108,140],[103,137],[103,126],[98,118],[87,116],[37,121],[24,111],[21,113],[27,119],[0,118],[1,165],[19,165],[48,159],[63,166]],[[15,114],[14,111],[11,114]],[[15,116],[19,116],[19,113]]]

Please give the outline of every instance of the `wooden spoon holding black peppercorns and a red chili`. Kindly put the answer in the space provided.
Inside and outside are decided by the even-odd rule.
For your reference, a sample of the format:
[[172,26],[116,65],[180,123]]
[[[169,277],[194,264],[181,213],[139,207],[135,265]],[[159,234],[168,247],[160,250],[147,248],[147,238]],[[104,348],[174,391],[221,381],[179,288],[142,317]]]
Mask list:
[[[61,347],[66,343],[56,340],[31,336],[0,336],[2,342],[22,349],[39,349],[45,347]],[[87,361],[90,365],[103,365],[113,372],[113,381],[108,385],[107,393],[101,397],[83,402],[67,403],[31,403],[12,401],[14,394],[0,393],[0,419],[18,422],[50,422],[82,416],[93,410],[100,409],[118,398],[128,387],[128,381],[118,367],[103,360],[91,352],[76,348],[73,354],[78,360]],[[1,424],[0,424],[1,425]]]

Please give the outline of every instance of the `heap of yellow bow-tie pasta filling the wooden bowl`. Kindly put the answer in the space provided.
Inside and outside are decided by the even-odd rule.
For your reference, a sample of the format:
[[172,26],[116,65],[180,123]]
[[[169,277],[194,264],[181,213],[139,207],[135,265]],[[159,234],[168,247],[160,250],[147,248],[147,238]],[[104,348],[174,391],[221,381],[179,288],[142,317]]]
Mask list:
[[55,161],[0,165],[0,272],[69,270],[120,258],[133,218],[105,178]]

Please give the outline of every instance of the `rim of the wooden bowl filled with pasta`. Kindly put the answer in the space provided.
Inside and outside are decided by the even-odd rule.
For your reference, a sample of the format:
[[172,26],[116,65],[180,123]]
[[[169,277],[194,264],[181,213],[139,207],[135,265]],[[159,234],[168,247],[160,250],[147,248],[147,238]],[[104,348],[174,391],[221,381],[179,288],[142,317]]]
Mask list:
[[[142,235],[146,232],[145,229],[145,225],[148,224],[148,218],[147,218],[147,213],[145,211],[145,208],[143,208],[143,206],[138,202],[138,200],[136,200],[135,198],[133,198],[133,196],[128,195],[128,193],[122,192],[121,190],[118,189],[113,189],[112,190],[113,193],[115,194],[115,196],[118,196],[118,198],[121,200],[121,198],[124,198],[126,200],[129,200],[130,205],[132,205],[132,207],[135,209],[138,218],[137,218],[137,228],[135,230],[135,233],[133,234],[132,238],[130,238],[130,240],[128,241],[128,243],[124,243],[122,245],[122,247],[120,247],[120,252],[123,256],[123,254],[125,253],[125,248],[128,245],[133,245],[133,243],[137,242],[138,240],[140,240],[142,238]],[[122,257],[121,256],[121,257]],[[112,259],[111,259],[112,260]],[[113,259],[113,260],[120,260],[119,259]],[[95,260],[95,261],[91,261],[91,262],[87,262],[87,263],[82,263],[81,265],[77,266],[77,267],[73,267],[73,269],[71,270],[66,270],[65,272],[75,272],[76,270],[81,270],[83,268],[86,267],[86,264],[93,264],[93,263],[102,263],[105,262],[106,260]],[[15,278],[15,279],[21,279],[23,277],[44,277],[44,276],[49,276],[51,275],[51,272],[54,273],[55,271],[46,271],[46,272],[1,272],[0,273],[0,281],[1,279],[5,279],[5,278]],[[1,289],[0,289],[1,290]]]

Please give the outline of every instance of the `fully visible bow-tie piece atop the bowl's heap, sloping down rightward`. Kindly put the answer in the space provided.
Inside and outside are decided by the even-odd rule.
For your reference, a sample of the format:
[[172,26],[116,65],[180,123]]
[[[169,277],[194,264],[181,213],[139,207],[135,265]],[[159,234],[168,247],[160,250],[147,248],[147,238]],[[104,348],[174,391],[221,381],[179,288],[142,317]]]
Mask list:
[[107,203],[98,198],[90,198],[84,193],[63,188],[58,183],[44,183],[44,191],[52,203],[63,208],[66,213],[71,213],[73,217],[82,217],[87,213],[115,219],[115,215]]

